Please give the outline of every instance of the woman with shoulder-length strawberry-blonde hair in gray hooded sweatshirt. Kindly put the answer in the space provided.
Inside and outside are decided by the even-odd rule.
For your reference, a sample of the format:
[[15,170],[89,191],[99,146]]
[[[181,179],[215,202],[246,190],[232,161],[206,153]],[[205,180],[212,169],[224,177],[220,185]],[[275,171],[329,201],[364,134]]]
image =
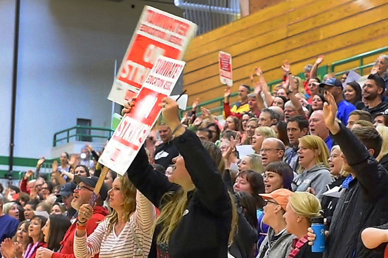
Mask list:
[[300,174],[294,178],[293,191],[312,191],[318,199],[327,191],[328,184],[334,179],[329,171],[329,150],[322,138],[306,135],[299,139],[299,167]]

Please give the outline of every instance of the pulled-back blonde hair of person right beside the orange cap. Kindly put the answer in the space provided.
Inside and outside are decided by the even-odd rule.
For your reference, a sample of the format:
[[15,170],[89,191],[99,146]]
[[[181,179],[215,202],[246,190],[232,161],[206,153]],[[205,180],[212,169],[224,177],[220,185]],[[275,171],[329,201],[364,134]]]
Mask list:
[[296,214],[307,218],[320,217],[322,207],[318,198],[308,192],[295,192],[289,198],[289,204]]

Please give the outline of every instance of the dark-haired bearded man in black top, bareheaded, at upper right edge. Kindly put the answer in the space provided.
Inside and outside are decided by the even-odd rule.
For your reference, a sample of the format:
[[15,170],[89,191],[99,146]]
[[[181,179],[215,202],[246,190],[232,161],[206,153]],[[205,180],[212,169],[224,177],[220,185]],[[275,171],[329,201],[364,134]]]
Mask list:
[[388,108],[388,103],[381,101],[384,90],[385,82],[377,74],[370,74],[362,88],[362,97],[366,100],[362,110],[371,113],[373,119]]

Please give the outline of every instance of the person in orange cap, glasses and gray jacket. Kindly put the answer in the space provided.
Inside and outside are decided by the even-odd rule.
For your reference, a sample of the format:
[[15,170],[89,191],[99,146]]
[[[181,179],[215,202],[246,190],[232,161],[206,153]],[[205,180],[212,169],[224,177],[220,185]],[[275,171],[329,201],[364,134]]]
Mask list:
[[280,188],[272,193],[260,194],[264,198],[263,222],[269,226],[268,234],[259,246],[259,254],[256,258],[285,258],[291,251],[293,234],[286,230],[284,213],[288,204],[288,198],[293,192]]

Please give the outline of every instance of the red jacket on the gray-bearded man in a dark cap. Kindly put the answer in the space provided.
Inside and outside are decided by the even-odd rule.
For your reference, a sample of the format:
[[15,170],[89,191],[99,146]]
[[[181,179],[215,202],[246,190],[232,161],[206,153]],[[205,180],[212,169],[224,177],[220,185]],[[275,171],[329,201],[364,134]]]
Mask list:
[[[99,222],[104,220],[105,216],[108,215],[107,210],[101,206],[95,206],[93,210],[93,215],[88,222],[86,222],[86,234],[89,236],[92,234],[94,229],[97,227]],[[68,231],[66,231],[65,236],[61,242],[61,249],[59,253],[53,253],[51,258],[75,258],[73,252],[73,244],[74,244],[74,234],[76,231],[78,219],[69,227]],[[94,256],[98,258],[98,254]]]

